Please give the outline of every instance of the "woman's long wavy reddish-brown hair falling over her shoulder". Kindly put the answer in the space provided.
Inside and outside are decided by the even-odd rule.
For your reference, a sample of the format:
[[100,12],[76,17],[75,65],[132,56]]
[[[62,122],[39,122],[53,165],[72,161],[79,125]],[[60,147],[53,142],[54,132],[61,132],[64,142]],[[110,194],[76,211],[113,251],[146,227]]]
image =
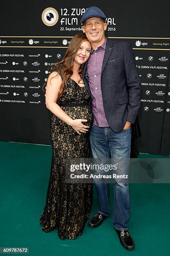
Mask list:
[[[50,72],[47,76],[47,79],[53,71],[57,71],[58,74],[60,74],[62,77],[62,84],[60,86],[60,92],[58,94],[58,99],[67,90],[67,80],[73,74],[73,65],[74,65],[75,56],[77,54],[77,51],[80,49],[80,45],[84,41],[88,41],[85,34],[77,34],[77,35],[73,36],[62,61],[53,64],[50,68]],[[82,79],[83,65],[84,65],[84,63],[80,66],[80,69],[78,72],[78,74],[80,74],[80,80]],[[57,77],[58,74],[55,77]],[[51,81],[51,79],[50,79],[50,81]],[[79,80],[79,82],[80,82],[80,80]],[[45,84],[43,84],[43,87],[42,87],[43,91],[44,91],[44,87],[46,86],[46,84],[47,84],[47,82],[45,82]]]

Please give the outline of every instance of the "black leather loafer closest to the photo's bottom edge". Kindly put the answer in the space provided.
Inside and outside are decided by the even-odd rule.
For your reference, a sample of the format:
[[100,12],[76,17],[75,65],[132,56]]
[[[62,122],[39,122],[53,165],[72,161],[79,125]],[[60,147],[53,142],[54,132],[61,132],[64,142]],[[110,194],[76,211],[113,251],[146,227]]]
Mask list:
[[133,250],[135,248],[135,244],[133,241],[132,236],[130,236],[130,233],[128,230],[116,230],[116,233],[120,239],[120,243],[123,247],[125,247],[127,250]]

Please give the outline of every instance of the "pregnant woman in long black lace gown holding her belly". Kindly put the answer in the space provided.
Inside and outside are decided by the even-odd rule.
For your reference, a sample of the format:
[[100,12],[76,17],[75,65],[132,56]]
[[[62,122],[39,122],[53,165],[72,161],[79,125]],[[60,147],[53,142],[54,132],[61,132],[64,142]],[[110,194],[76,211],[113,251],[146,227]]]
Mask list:
[[82,235],[92,206],[92,184],[65,183],[64,171],[67,158],[91,156],[90,95],[82,80],[82,67],[90,51],[87,37],[75,35],[63,60],[51,67],[46,84],[45,103],[52,112],[52,163],[40,225],[46,233],[57,228],[61,240]]

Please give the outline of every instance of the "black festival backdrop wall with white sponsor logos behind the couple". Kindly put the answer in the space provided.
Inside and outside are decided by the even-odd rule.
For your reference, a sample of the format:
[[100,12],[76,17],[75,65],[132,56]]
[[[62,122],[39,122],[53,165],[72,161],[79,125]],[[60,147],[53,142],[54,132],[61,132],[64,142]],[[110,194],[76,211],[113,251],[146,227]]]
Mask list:
[[[160,6],[161,5],[161,6]],[[0,141],[51,145],[42,85],[89,6],[107,16],[106,36],[129,41],[140,75],[141,153],[170,155],[169,0],[0,3]]]

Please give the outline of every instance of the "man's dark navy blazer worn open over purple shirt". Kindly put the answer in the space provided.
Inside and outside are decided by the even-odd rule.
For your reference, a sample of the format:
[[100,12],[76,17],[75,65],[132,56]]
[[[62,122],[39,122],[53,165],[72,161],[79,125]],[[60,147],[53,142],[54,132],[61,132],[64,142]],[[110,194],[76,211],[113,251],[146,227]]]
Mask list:
[[[83,80],[91,95],[86,69],[87,62],[83,67]],[[126,121],[135,123],[140,107],[141,84],[130,43],[107,38],[101,90],[107,123],[114,132],[121,132]]]

